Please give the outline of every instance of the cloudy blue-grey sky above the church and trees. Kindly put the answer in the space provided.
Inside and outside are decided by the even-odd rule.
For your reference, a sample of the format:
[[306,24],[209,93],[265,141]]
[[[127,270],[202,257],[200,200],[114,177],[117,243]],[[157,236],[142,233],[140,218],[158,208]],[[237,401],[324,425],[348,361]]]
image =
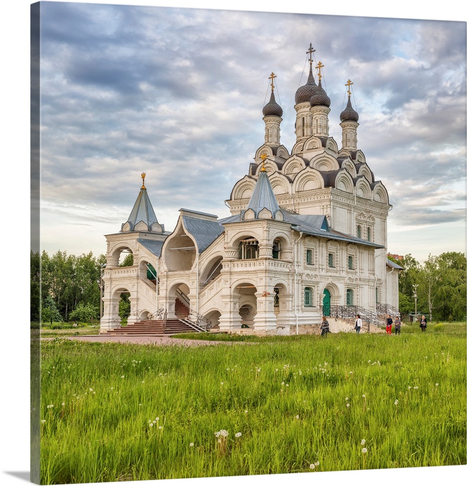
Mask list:
[[41,10],[41,248],[104,253],[141,172],[166,229],[182,207],[227,216],[271,71],[294,145],[310,42],[339,146],[354,83],[358,146],[394,206],[388,250],[465,251],[465,22],[66,2]]

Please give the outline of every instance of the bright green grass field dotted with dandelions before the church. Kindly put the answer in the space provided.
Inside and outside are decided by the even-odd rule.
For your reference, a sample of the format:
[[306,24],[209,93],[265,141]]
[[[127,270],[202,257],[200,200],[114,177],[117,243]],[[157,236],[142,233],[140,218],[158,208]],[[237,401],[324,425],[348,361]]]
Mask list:
[[189,348],[57,338],[40,383],[42,484],[466,464],[465,323]]

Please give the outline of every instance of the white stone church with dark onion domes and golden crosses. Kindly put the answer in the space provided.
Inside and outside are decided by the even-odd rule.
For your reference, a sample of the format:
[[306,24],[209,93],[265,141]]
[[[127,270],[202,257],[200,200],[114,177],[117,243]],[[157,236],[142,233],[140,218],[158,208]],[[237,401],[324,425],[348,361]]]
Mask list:
[[[401,267],[387,259],[388,193],[357,146],[350,80],[341,148],[329,136],[330,100],[313,52],[310,44],[308,81],[295,93],[291,151],[280,142],[271,74],[264,143],[233,186],[229,217],[182,208],[166,232],[141,174],[128,220],[105,237],[101,332],[122,329],[121,293],[130,294],[126,329],[140,332],[180,322],[199,331],[313,333],[323,315],[332,323],[356,313],[369,330],[368,323],[398,313]],[[119,267],[122,252],[133,254],[132,266]]]

